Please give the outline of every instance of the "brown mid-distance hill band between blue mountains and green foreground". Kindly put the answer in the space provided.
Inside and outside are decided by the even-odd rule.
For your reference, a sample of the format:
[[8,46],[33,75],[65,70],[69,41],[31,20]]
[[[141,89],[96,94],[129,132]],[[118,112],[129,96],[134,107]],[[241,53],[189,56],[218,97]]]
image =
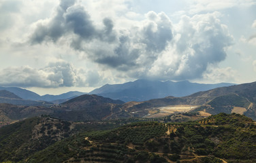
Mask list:
[[[4,120],[9,122],[20,120],[25,116],[14,115],[41,115],[45,113],[61,120],[87,122],[91,120],[110,120],[119,118],[161,118],[168,117],[172,120],[189,120],[186,115],[180,113],[195,113],[195,120],[218,113],[240,113],[256,120],[256,82],[215,88],[212,90],[197,92],[189,96],[155,98],[149,101],[125,103],[119,100],[112,100],[95,94],[84,94],[71,98],[61,105],[48,105],[40,109],[23,108],[12,110],[12,105],[0,106],[0,109],[12,110],[6,114]],[[17,107],[20,108],[20,107]],[[21,112],[20,112],[21,111]],[[15,118],[14,118],[15,117]],[[8,119],[9,118],[9,119]],[[6,123],[5,123],[6,124]]]

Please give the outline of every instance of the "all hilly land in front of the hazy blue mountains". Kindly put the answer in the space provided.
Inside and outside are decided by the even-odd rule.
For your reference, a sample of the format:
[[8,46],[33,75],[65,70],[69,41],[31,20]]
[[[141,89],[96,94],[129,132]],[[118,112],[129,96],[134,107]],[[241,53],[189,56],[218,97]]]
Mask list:
[[0,162],[255,162],[255,89],[127,103],[96,94],[61,104],[1,103]]

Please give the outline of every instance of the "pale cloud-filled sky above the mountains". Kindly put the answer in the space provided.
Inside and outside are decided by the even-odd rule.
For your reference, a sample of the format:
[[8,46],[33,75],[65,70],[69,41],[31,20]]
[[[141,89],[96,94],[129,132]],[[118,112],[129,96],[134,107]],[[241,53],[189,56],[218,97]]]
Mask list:
[[256,81],[255,0],[0,0],[0,86]]

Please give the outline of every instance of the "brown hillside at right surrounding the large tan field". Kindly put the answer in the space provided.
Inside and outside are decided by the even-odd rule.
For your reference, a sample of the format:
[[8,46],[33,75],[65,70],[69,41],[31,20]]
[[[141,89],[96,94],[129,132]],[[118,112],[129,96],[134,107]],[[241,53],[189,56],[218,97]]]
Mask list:
[[[156,98],[140,103],[127,103],[122,108],[140,116],[167,116],[172,113],[198,112],[202,115],[240,113],[256,120],[256,82],[215,88],[189,96]],[[187,109],[180,110],[180,107]],[[191,108],[191,109],[189,109]]]

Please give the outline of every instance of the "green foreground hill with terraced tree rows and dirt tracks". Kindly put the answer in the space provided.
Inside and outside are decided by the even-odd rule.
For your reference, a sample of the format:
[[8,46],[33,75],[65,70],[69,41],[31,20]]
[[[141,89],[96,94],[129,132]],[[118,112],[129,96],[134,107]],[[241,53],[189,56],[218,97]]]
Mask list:
[[[31,140],[31,131],[25,129],[28,128],[27,125],[31,126],[29,122],[32,123],[34,120],[13,124],[12,128],[15,128],[15,125],[20,126],[17,128],[23,128],[19,132],[18,129],[10,130],[9,126],[0,128],[0,145],[2,145],[0,161],[256,162],[255,122],[235,113],[231,115],[221,113],[197,122],[175,124],[136,122],[113,130],[93,132],[84,130],[54,144],[46,143],[48,147],[42,150],[32,148],[34,151],[31,151],[33,143],[22,141]],[[52,133],[57,124],[48,127],[49,125],[46,125],[48,122],[60,122],[52,119],[44,123],[39,122],[47,126],[42,132],[48,134],[48,138],[54,138]],[[71,126],[72,124],[68,125],[69,130]],[[18,137],[20,134],[24,137]],[[30,136],[23,139],[25,135]],[[10,143],[14,139],[22,143],[16,143],[17,145],[14,146],[14,143]],[[40,141],[41,139],[39,144]],[[10,150],[12,147],[13,150]],[[25,149],[30,150],[23,153]]]

